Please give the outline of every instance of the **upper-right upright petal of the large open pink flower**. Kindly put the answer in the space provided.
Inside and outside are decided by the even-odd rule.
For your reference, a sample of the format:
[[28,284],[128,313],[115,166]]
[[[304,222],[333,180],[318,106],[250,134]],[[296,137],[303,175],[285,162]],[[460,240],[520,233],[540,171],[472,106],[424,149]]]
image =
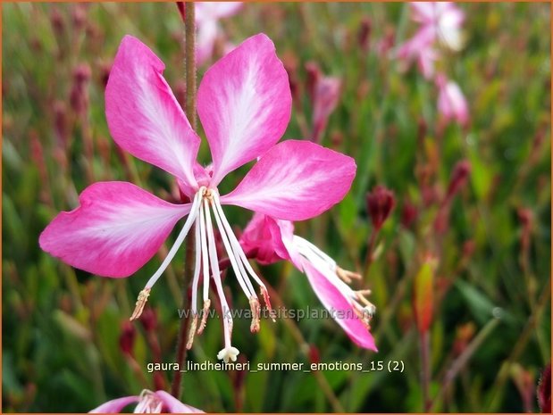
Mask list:
[[291,103],[288,75],[264,34],[249,37],[205,72],[197,113],[213,155],[213,186],[279,141]]

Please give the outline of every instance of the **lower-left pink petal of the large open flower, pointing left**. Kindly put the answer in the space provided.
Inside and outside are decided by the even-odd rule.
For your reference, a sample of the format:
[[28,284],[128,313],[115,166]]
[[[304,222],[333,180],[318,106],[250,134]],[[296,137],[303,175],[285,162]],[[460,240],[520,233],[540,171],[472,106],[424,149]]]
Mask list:
[[75,268],[115,278],[142,267],[190,211],[190,204],[167,203],[116,181],[87,187],[79,201],[46,227],[40,247]]

